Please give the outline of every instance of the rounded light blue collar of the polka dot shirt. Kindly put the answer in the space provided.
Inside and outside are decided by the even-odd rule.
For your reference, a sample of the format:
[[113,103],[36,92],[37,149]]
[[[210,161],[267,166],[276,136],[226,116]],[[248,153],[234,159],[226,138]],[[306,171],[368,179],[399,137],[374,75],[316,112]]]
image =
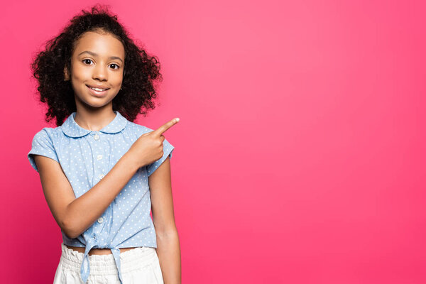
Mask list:
[[[122,116],[119,111],[114,111],[116,114],[116,117],[103,129],[99,130],[103,133],[117,133],[126,127],[127,119]],[[60,126],[63,133],[65,133],[67,136],[70,137],[82,137],[87,135],[87,133],[90,132],[96,132],[96,131],[90,131],[89,129],[84,129],[80,125],[75,122],[76,112],[74,111],[68,118],[64,121],[64,123]]]

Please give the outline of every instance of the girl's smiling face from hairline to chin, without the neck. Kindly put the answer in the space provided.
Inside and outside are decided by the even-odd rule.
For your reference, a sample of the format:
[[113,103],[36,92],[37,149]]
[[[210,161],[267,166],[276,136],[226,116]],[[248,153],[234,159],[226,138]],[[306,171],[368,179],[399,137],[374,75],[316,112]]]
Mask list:
[[[112,104],[123,82],[124,46],[111,34],[87,32],[77,41],[71,58],[72,89],[79,107]],[[107,89],[102,92],[90,87]]]

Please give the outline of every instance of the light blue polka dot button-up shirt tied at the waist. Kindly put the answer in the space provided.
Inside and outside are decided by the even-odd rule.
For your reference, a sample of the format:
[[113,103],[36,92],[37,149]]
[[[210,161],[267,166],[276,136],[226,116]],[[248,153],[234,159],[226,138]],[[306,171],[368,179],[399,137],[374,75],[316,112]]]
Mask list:
[[[79,126],[70,114],[61,126],[45,127],[33,138],[28,160],[38,171],[33,155],[44,155],[62,167],[75,197],[90,190],[114,167],[121,156],[143,134],[153,131],[128,121],[119,111],[116,117],[99,131],[90,131]],[[80,275],[84,283],[89,277],[90,249],[111,249],[119,271],[120,248],[149,246],[156,248],[156,236],[151,219],[151,197],[148,177],[170,157],[174,147],[163,141],[163,157],[150,165],[138,168],[119,195],[109,204],[96,222],[75,239],[68,238],[61,229],[63,243],[84,247]]]

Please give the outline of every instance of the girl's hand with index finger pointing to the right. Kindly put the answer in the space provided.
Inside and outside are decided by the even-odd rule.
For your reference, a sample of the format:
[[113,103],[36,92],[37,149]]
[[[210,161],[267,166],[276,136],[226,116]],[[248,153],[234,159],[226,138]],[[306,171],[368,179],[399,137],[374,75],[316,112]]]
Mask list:
[[163,157],[163,141],[165,139],[163,133],[177,124],[178,121],[178,118],[172,119],[158,129],[142,134],[141,137],[133,143],[127,153],[136,160],[138,168],[149,165],[155,162],[155,160]]

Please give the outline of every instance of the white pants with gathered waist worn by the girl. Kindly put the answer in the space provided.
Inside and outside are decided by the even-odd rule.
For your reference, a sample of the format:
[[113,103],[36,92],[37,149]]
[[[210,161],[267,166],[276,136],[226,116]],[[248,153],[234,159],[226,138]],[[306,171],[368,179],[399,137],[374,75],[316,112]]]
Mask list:
[[[62,255],[53,284],[82,284],[80,267],[84,253],[61,244]],[[120,253],[124,284],[164,284],[160,261],[154,248],[142,247]],[[119,273],[112,254],[89,256],[90,274],[87,284],[119,284]]]

